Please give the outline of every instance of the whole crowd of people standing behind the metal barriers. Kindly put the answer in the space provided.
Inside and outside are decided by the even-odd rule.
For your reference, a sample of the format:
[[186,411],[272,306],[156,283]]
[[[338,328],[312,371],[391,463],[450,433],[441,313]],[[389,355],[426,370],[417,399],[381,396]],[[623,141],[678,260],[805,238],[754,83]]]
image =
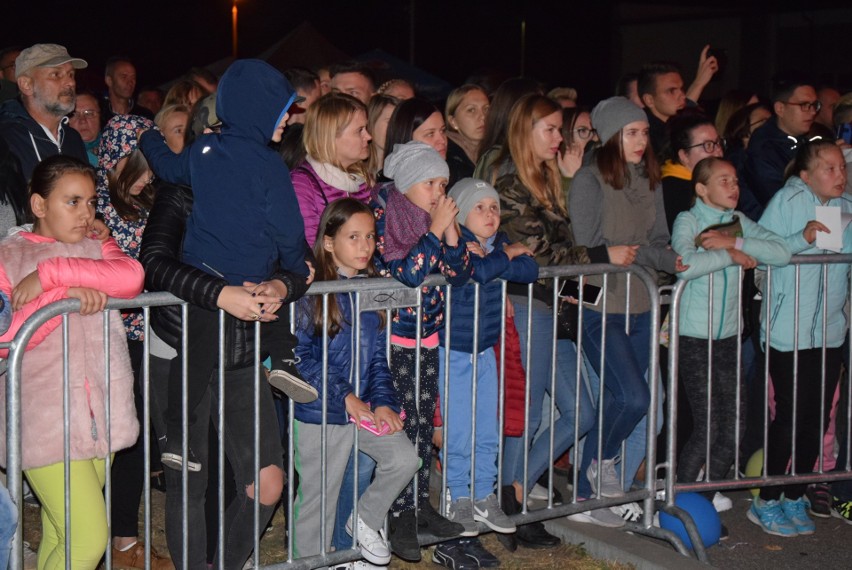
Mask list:
[[[81,304],[67,346],[55,317],[24,356],[22,465],[42,508],[40,569],[66,558],[95,568],[106,548],[114,565],[144,567],[137,519],[149,475],[163,481],[172,555],[151,549],[152,566],[241,568],[254,547],[255,495],[261,527],[281,502],[288,398],[294,557],[357,547],[363,560],[342,568],[383,567],[392,554],[420,560],[421,542],[438,539],[432,560],[459,570],[499,565],[480,531],[498,533],[509,550],[560,544],[541,523],[511,518],[530,498],[563,500],[547,485],[554,459],[581,441],[568,456],[576,500],[621,497],[645,459],[648,430],[661,426],[647,425],[657,375],[642,281],[616,272],[590,276],[579,293],[555,291],[541,267],[603,263],[643,268],[660,284],[687,281],[679,381],[694,427],[678,481],[725,479],[735,450],[748,458],[762,447],[766,372],[767,474],[787,472],[791,458],[797,474],[845,465],[845,445],[836,457],[823,437],[848,432],[835,430],[831,411],[849,267],[788,264],[794,254],[852,253],[852,232],[830,222],[852,214],[852,94],[791,74],[768,97],[726,94],[713,116],[701,101],[718,69],[707,47],[686,89],[677,66],[652,62],[591,107],[578,105],[575,89],[514,78],[493,92],[466,83],[441,108],[404,79],[379,85],[357,63],[282,73],[237,60],[221,78],[193,68],[167,93],[137,93],[132,61],[114,57],[105,96],[77,90],[75,71],[88,63],[60,45],[2,50],[0,64],[0,301],[12,311],[0,341],[51,302]],[[763,292],[768,305],[738,298],[741,270],[743,290]],[[433,274],[451,295],[424,285]],[[306,296],[313,282],[351,291],[370,277],[418,288],[420,304],[385,314],[361,310],[351,292]],[[188,307],[154,309],[150,323],[141,310],[112,312],[105,374],[100,313],[108,296],[133,298],[143,287]],[[558,327],[555,311],[568,315]],[[256,353],[269,357],[259,390]],[[146,413],[143,366],[157,442],[150,474],[137,421]],[[222,521],[209,510],[212,522],[211,425],[224,434],[227,460],[227,508]],[[430,496],[437,449],[445,509],[434,506],[444,497]],[[847,487],[764,487],[748,518],[782,537],[813,533],[810,516],[852,523]],[[707,496],[730,508],[724,495]],[[640,512],[627,504],[569,518],[619,528]]]

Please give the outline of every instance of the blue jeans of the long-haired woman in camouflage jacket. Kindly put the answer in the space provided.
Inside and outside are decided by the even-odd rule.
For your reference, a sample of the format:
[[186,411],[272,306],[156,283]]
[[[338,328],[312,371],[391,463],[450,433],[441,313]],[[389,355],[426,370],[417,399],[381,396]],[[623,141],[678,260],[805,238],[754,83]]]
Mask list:
[[[521,342],[521,361],[527,363],[527,299],[511,296],[515,308],[515,325]],[[545,303],[533,300],[532,338],[530,340],[529,389],[530,407],[527,433],[531,447],[527,464],[526,489],[547,470],[550,458],[550,426],[545,426],[533,442],[541,425],[545,392],[550,392],[551,347],[553,344],[552,311]],[[588,314],[589,311],[586,312]],[[568,339],[556,341],[556,408],[559,419],[554,423],[553,458],[567,451],[574,443],[574,407],[577,394],[577,347]],[[553,394],[551,394],[553,396]],[[583,379],[580,379],[579,435],[582,437],[594,422],[591,399]],[[507,437],[503,454],[503,484],[524,480],[524,436]]]

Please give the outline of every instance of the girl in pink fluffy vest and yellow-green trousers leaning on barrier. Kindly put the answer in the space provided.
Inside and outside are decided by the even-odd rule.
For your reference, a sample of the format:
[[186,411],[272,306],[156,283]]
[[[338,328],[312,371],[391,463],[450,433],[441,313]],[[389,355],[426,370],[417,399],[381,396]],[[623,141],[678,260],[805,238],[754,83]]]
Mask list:
[[[103,497],[104,457],[133,445],[139,433],[133,404],[133,373],[125,332],[110,313],[109,394],[106,425],[103,318],[107,296],[132,298],[142,291],[142,266],[116,242],[91,239],[95,219],[95,172],[63,155],[42,161],[30,183],[32,233],[0,243],[0,290],[16,309],[0,341],[11,340],[39,308],[59,299],[80,299],[70,314],[67,352],[71,393],[71,550],[65,552],[63,448],[63,335],[61,317],[33,336],[24,355],[21,384],[23,468],[42,505],[39,568],[59,568],[71,557],[75,568],[95,568],[107,545]],[[0,457],[6,457],[5,381]],[[111,448],[107,447],[107,430]]]

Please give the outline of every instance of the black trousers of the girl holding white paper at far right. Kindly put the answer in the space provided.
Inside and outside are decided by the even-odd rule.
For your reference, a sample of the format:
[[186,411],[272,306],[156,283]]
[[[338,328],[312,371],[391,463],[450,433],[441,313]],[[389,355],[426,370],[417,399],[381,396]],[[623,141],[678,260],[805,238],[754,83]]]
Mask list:
[[[799,351],[798,389],[793,395],[793,352],[769,349],[769,373],[775,388],[775,419],[769,426],[769,449],[767,472],[782,475],[792,456],[793,425],[796,426],[796,473],[812,473],[814,462],[822,452],[822,438],[828,427],[831,402],[840,376],[842,349],[829,348],[825,356],[825,397],[821,398],[820,378],[822,371],[822,349],[811,348]],[[793,402],[796,417],[793,417]],[[825,417],[820,422],[820,404],[825,406]],[[760,498],[779,499],[783,493],[787,499],[798,499],[805,494],[806,485],[764,487]]]

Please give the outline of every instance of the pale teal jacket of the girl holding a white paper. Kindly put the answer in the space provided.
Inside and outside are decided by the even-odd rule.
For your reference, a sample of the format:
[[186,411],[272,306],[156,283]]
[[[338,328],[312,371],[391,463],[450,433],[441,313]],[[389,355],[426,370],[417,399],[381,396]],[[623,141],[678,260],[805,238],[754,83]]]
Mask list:
[[[817,249],[805,241],[802,230],[816,219],[817,206],[838,206],[843,213],[852,213],[852,199],[846,194],[821,204],[811,189],[798,176],[792,176],[781,190],[772,197],[760,225],[783,236],[793,255],[816,255],[832,253]],[[814,242],[816,243],[816,242]],[[843,233],[842,253],[852,253],[852,231],[849,226]],[[846,316],[843,305],[848,296],[849,265],[828,265],[828,295],[826,307],[825,345],[836,348],[843,344],[846,336]],[[772,290],[769,308],[769,344],[776,350],[793,350],[795,319],[796,268],[788,266],[772,272]],[[802,265],[799,271],[799,349],[819,348],[823,345],[823,280],[820,265]],[[766,295],[764,295],[764,302]],[[760,312],[760,340],[766,343],[766,311]]]

